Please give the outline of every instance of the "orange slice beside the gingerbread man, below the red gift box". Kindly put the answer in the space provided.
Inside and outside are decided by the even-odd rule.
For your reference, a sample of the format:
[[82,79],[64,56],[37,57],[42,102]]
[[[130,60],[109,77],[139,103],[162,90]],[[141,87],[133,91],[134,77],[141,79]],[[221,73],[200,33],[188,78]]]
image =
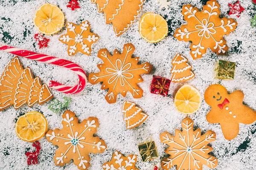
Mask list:
[[183,85],[176,93],[174,105],[177,111],[183,114],[192,114],[201,106],[200,92],[191,85]]

